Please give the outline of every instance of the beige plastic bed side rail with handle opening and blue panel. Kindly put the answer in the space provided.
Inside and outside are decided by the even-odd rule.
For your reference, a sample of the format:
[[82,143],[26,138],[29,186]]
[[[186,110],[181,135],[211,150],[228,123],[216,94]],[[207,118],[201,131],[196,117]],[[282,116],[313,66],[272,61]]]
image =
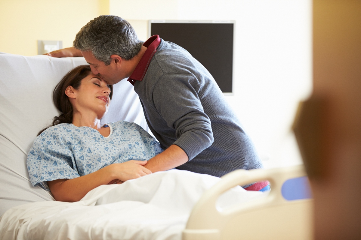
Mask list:
[[[237,185],[268,180],[268,196],[217,209],[218,197]],[[183,240],[312,239],[312,196],[303,165],[236,170],[207,190],[193,208]]]

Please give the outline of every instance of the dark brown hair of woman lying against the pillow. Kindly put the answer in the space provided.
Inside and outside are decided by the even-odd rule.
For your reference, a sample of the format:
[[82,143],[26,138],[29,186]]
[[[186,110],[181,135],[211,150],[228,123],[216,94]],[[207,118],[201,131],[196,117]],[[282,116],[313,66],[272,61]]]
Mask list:
[[[73,105],[71,105],[68,96],[65,94],[65,90],[68,86],[79,89],[83,78],[91,73],[90,65],[80,65],[70,72],[66,73],[65,76],[56,85],[53,91],[53,102],[55,107],[61,112],[57,117],[54,117],[52,125],[45,127],[38,133],[38,136],[45,131],[47,128],[55,126],[60,123],[72,123],[73,122]],[[110,99],[113,96],[113,86],[110,87]]]

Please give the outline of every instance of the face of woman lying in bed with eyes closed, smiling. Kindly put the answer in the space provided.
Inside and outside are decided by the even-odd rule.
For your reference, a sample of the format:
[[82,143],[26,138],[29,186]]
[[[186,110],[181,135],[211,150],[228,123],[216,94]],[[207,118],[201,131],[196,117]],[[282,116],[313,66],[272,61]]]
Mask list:
[[98,119],[104,117],[110,105],[110,88],[106,81],[90,73],[83,78],[78,90],[73,89],[75,98],[69,96],[78,112],[94,112]]

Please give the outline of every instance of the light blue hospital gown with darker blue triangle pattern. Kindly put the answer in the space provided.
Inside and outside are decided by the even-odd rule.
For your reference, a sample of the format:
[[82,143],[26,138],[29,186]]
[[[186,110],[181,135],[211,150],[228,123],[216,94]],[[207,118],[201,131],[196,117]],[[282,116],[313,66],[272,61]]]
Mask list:
[[49,190],[47,181],[76,178],[112,163],[149,160],[163,150],[159,143],[135,123],[107,124],[104,137],[91,127],[61,123],[36,137],[27,156],[27,170],[33,186]]

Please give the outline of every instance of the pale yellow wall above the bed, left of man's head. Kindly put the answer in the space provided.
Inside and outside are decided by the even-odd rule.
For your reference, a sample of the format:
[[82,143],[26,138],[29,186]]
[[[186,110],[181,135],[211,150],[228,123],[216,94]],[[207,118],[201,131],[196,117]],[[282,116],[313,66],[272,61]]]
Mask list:
[[38,40],[70,47],[91,19],[109,14],[109,0],[0,0],[0,52],[38,54]]

